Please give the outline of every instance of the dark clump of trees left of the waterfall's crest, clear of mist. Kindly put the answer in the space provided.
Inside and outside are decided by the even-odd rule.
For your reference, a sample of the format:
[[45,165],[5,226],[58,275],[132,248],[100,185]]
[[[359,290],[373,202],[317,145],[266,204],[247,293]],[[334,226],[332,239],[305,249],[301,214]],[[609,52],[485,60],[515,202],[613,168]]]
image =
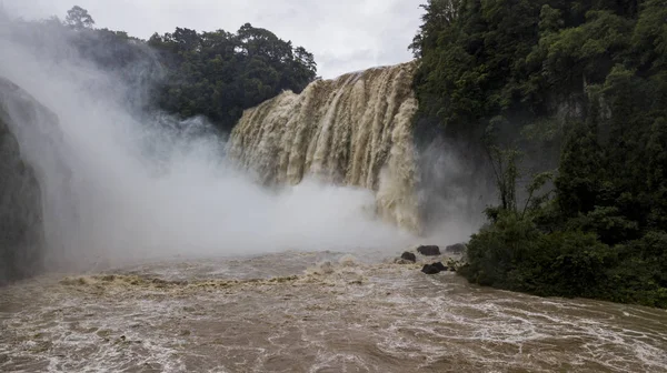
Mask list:
[[250,23],[236,34],[177,28],[153,34],[148,44],[169,69],[157,104],[182,118],[206,115],[227,130],[245,109],[282,90],[300,92],[316,78],[311,53]]

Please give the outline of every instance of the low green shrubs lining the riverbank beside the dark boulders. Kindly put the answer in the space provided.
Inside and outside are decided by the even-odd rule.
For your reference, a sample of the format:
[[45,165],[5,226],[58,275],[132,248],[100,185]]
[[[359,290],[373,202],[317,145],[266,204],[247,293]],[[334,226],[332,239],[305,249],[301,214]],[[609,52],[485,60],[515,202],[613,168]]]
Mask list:
[[459,273],[488,286],[667,308],[667,233],[609,246],[581,230],[545,233],[502,212],[474,234]]

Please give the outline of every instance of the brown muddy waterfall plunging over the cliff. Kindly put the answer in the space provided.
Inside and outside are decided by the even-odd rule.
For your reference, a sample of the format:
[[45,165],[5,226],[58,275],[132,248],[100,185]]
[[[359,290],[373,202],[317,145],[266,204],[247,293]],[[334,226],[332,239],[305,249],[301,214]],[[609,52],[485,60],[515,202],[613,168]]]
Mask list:
[[376,192],[378,213],[421,231],[415,193],[416,62],[318,80],[247,110],[228,152],[261,182],[316,178]]

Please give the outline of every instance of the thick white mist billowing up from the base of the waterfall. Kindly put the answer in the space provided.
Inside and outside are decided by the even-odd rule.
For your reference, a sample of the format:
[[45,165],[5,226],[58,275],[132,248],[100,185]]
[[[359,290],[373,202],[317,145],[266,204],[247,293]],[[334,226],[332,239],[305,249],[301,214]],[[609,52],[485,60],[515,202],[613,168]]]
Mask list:
[[[64,38],[49,39],[61,43],[49,50],[68,47]],[[32,140],[34,129],[52,123],[21,123],[19,131],[23,151],[41,170],[50,268],[281,250],[396,250],[414,240],[372,218],[371,191],[316,181],[267,190],[225,158],[225,140],[205,119],[138,115],[113,74],[33,47],[3,38],[0,75],[58,117],[50,131],[60,132],[63,162]],[[8,109],[21,118],[21,108]]]

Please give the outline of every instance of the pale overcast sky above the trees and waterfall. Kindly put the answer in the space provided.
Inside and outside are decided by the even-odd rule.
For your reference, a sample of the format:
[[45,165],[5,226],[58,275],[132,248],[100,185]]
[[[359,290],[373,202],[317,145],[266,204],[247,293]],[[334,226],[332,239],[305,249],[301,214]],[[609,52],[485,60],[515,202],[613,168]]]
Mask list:
[[78,4],[98,28],[148,39],[176,27],[237,31],[245,22],[312,52],[323,78],[411,60],[407,50],[426,0],[0,0],[27,19]]

